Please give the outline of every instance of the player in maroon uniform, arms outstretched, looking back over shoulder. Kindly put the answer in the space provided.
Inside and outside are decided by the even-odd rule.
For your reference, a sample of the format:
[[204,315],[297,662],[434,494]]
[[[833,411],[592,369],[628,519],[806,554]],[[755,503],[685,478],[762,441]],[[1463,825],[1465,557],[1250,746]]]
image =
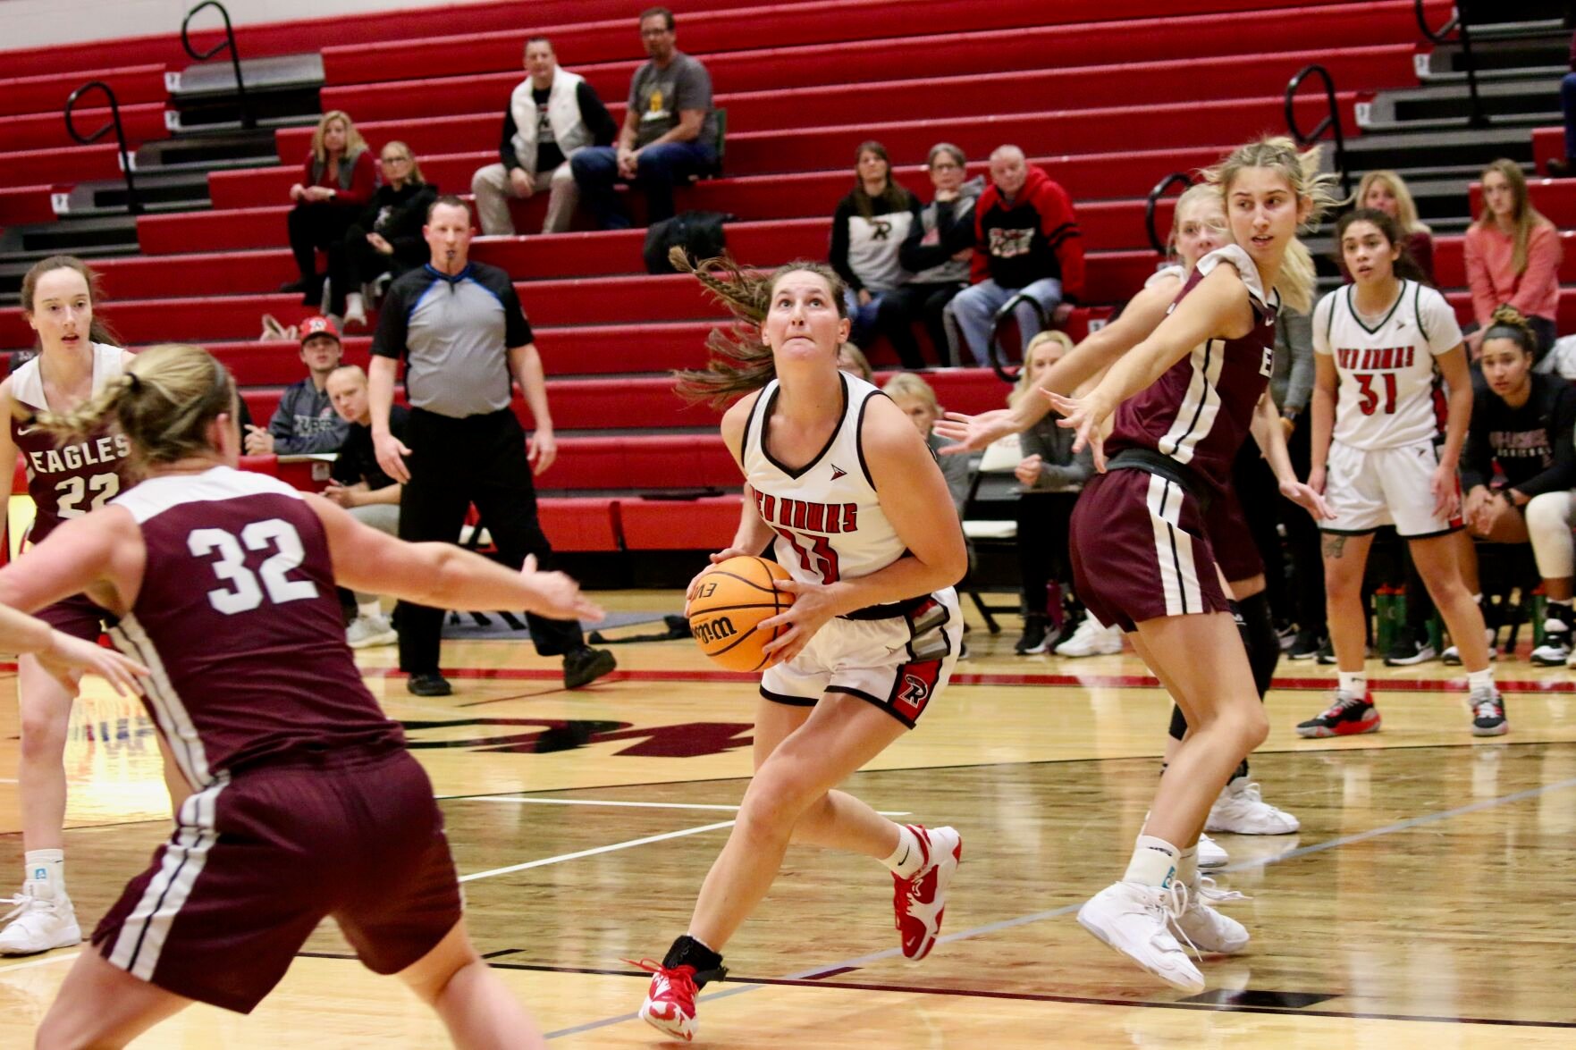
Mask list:
[[[1280,284],[1299,304],[1311,298],[1313,268],[1291,249],[1299,225],[1329,199],[1316,151],[1299,155],[1288,139],[1240,147],[1206,175],[1221,189],[1236,244],[1199,260],[1166,320],[1087,396],[1051,396],[1062,426],[1078,432],[1076,446],[1094,448],[1102,471],[1073,511],[1078,593],[1102,623],[1130,632],[1190,727],[1160,777],[1127,873],[1084,903],[1078,921],[1190,992],[1201,992],[1204,977],[1176,933],[1228,951],[1248,940],[1188,888],[1210,806],[1269,733],[1206,516],[1229,489],[1248,432],[1278,426],[1267,397],[1280,306],[1270,289]],[[1106,448],[1116,452],[1110,462]],[[1318,493],[1281,478],[1288,498],[1327,516]]]

